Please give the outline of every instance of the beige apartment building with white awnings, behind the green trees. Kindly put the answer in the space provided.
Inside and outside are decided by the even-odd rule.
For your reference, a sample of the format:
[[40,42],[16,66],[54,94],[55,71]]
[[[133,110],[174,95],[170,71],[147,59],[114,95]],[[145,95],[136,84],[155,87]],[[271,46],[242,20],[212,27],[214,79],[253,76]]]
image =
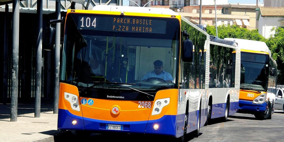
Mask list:
[[[202,6],[201,24],[207,25],[239,25],[247,29],[255,29],[256,6],[247,5],[217,5],[215,20],[215,6]],[[188,20],[199,23],[199,6],[183,7],[180,15],[187,17]],[[216,24],[217,23],[217,24]]]

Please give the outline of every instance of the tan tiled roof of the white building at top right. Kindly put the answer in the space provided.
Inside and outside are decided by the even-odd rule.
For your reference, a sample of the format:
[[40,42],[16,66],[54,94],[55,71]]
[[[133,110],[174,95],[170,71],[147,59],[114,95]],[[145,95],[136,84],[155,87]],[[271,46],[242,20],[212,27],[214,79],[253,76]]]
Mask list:
[[260,7],[261,16],[284,16],[284,7]]

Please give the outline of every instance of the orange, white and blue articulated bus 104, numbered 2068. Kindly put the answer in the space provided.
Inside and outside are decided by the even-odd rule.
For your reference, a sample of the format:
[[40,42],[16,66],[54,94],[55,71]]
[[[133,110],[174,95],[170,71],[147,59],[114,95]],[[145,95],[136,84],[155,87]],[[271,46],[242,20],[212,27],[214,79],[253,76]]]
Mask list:
[[[209,45],[205,31],[166,8],[67,10],[57,129],[198,136],[239,100],[238,47]],[[209,87],[211,64],[218,81],[227,71],[223,87]]]

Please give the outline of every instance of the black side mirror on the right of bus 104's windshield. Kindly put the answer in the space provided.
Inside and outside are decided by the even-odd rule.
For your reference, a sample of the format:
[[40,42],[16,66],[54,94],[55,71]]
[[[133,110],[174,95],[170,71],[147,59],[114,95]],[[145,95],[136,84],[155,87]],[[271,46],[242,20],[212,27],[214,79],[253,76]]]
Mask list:
[[184,31],[185,40],[182,41],[182,61],[184,62],[192,62],[193,59],[193,44],[192,41],[189,40],[189,35]]

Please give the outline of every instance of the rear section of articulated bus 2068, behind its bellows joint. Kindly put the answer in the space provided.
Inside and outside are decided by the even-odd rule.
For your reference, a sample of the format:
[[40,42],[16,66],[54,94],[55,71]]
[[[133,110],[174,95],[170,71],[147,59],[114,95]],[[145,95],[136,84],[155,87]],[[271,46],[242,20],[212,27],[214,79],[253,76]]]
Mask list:
[[240,49],[224,42],[225,40],[210,35],[207,121],[223,117],[224,114],[220,112],[223,112],[224,108],[224,118],[227,120],[239,107]]

